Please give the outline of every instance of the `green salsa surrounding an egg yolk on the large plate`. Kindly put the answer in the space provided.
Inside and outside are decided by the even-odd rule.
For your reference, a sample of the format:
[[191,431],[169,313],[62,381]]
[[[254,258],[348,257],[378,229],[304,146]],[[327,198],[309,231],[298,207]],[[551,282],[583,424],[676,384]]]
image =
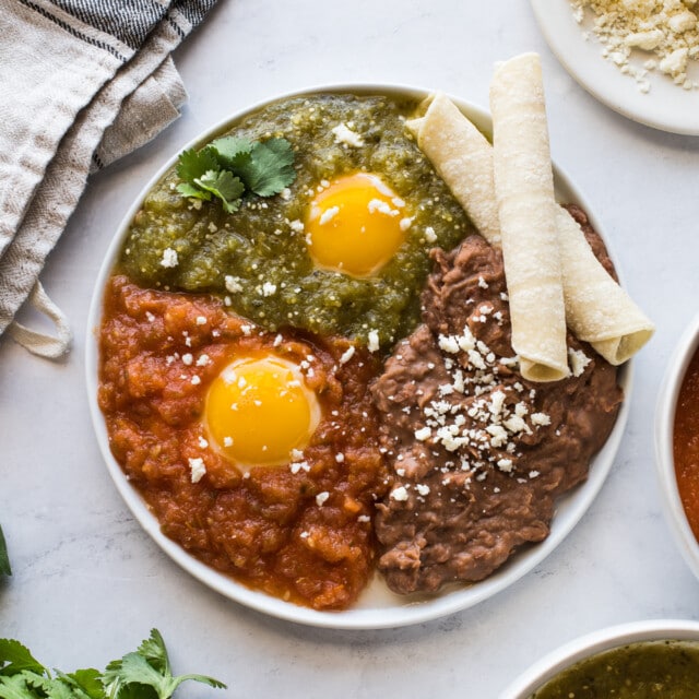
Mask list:
[[[451,249],[474,230],[404,127],[416,108],[407,98],[319,94],[247,116],[225,134],[287,139],[295,181],[282,194],[246,197],[228,214],[217,201],[182,197],[173,168],[134,216],[120,271],[144,286],[218,295],[269,330],[296,327],[363,343],[376,333],[382,346],[390,345],[419,320],[429,250]],[[362,143],[339,139],[339,125]],[[405,202],[410,217],[398,252],[365,279],[317,269],[303,227],[321,183],[356,171],[378,175]]]

